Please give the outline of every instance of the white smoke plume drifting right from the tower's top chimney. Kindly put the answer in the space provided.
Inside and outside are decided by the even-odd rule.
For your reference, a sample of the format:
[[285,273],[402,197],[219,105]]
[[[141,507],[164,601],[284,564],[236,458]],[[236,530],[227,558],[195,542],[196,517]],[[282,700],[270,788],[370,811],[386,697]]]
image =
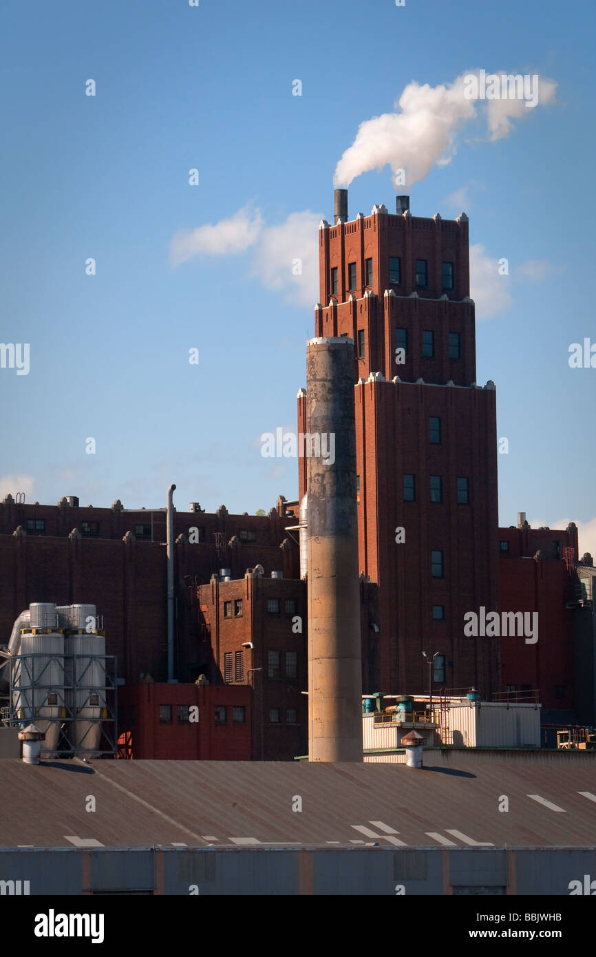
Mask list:
[[[414,80],[408,83],[395,103],[394,113],[360,124],[354,143],[336,167],[335,186],[347,187],[361,173],[388,164],[394,172],[405,170],[403,185],[410,187],[428,176],[432,167],[451,162],[457,134],[463,125],[475,120],[477,109],[486,115],[491,141],[509,136],[511,119],[527,118],[533,110],[527,109],[523,100],[468,99],[465,78],[478,73],[468,71],[445,85],[421,86]],[[542,104],[554,101],[556,85],[552,80],[540,79]]]

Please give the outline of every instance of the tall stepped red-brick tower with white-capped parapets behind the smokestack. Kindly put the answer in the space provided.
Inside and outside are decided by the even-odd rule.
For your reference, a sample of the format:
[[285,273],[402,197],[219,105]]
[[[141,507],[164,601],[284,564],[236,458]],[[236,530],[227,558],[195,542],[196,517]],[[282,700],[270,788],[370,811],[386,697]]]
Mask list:
[[[465,612],[497,611],[497,418],[475,384],[468,217],[375,206],[320,223],[315,335],[356,344],[359,562],[378,585],[363,624],[364,691],[498,686],[498,639],[464,635]],[[298,431],[307,432],[298,397]],[[306,459],[299,459],[300,500]],[[430,657],[438,653],[430,668]]]

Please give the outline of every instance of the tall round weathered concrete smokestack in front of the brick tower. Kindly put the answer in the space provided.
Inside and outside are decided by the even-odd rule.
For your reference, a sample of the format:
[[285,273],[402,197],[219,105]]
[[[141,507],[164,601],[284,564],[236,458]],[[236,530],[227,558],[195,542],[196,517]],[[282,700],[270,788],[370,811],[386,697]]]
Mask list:
[[308,759],[362,761],[352,340],[311,339],[306,375]]

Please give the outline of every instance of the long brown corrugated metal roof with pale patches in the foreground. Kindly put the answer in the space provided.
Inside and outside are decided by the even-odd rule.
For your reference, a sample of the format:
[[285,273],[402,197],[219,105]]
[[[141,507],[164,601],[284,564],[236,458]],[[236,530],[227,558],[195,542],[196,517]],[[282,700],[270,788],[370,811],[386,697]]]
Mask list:
[[[596,754],[437,751],[425,762],[3,759],[0,843],[596,844]],[[95,812],[85,810],[90,796]],[[508,811],[499,811],[503,797]]]

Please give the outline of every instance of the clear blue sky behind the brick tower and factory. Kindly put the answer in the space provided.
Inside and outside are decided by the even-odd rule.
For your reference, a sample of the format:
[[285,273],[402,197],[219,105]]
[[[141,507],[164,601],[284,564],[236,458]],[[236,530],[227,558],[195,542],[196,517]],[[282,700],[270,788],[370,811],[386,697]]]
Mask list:
[[[567,361],[571,343],[596,343],[594,20],[591,4],[570,16],[550,0],[5,3],[0,340],[30,343],[31,368],[0,369],[0,495],[156,507],[174,481],[179,508],[295,498],[296,461],[261,457],[259,441],[295,428],[314,331],[292,242],[301,256],[311,221],[332,218],[334,169],[360,123],[394,112],[411,81],[484,68],[553,80],[556,100],[496,142],[478,111],[449,164],[408,189],[411,208],[464,209],[482,247],[478,382],[496,382],[509,439],[500,522],[574,520],[596,548],[596,369]],[[392,210],[395,191],[390,167],[364,172],[350,215]],[[174,237],[239,211],[255,242],[176,264]],[[510,276],[495,286],[500,257]]]

